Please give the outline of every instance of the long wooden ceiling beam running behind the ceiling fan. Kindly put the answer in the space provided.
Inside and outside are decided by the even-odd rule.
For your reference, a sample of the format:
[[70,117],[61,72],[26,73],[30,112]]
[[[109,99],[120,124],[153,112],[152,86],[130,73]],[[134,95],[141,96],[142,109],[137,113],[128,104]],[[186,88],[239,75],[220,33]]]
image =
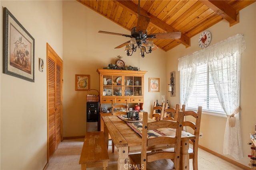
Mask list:
[[[129,12],[131,12],[133,14],[136,14],[136,15],[139,14],[138,5],[134,4],[130,0],[116,0],[116,3],[118,3],[120,6],[127,9]],[[152,16],[150,13],[148,13],[146,10],[144,10],[142,8],[140,8],[140,14],[142,16],[146,16],[146,17],[150,18],[150,24],[154,25],[155,27],[157,27],[158,29],[160,29],[164,32],[176,32],[176,31],[178,31],[177,29],[174,29],[173,27],[166,24],[165,22],[159,20],[155,16]],[[185,45],[186,48],[190,47],[190,38],[187,37],[184,34],[181,34],[180,39],[177,39],[177,41],[180,41],[180,43]]]

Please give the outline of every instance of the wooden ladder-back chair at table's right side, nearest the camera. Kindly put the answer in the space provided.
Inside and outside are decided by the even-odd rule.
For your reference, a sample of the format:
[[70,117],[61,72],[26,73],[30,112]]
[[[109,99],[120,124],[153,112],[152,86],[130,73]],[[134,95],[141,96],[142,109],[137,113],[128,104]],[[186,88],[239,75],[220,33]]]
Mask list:
[[[201,115],[202,115],[202,106],[198,106],[198,110],[186,110],[185,105],[182,105],[182,111],[185,117],[185,121],[183,122],[183,126],[186,127],[186,131],[194,131],[190,132],[196,136],[196,139],[191,139],[193,144],[193,148],[189,148],[188,154],[189,158],[193,159],[193,170],[198,170],[198,140],[199,140],[199,132],[200,132],[200,123],[201,123]],[[194,119],[194,120],[191,120]],[[191,121],[190,121],[191,120]]]

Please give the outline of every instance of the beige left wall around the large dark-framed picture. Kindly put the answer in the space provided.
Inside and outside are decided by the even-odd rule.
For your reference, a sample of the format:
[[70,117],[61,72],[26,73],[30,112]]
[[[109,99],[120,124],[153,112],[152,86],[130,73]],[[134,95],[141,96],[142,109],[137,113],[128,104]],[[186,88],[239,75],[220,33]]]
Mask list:
[[[46,43],[62,57],[62,1],[0,1],[1,166],[6,170],[42,170],[47,162]],[[35,82],[2,73],[3,8],[35,39]]]

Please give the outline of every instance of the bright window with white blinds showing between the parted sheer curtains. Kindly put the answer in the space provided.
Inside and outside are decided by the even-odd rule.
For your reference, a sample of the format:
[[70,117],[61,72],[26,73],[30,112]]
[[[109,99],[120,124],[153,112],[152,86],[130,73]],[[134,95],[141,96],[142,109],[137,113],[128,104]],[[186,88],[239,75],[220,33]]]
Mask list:
[[198,106],[202,106],[204,110],[224,113],[212,82],[208,64],[196,67],[194,86],[186,107],[197,109]]

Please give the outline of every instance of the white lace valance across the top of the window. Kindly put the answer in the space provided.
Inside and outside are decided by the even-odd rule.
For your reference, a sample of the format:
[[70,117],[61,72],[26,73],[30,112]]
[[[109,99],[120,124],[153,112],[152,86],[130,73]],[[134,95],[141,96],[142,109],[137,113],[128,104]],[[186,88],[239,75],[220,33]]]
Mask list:
[[224,41],[220,41],[206,49],[196,51],[190,55],[184,56],[178,62],[178,70],[199,66],[202,63],[212,62],[214,60],[221,60],[232,56],[239,51],[241,54],[246,48],[244,35],[237,34]]

